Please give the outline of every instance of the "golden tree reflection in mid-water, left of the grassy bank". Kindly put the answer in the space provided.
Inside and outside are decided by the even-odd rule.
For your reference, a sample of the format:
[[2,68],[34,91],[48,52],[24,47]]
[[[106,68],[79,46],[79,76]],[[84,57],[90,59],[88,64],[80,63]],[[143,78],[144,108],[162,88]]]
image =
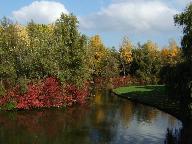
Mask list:
[[116,134],[118,124],[115,118],[118,109],[114,104],[114,96],[108,91],[97,91],[94,102],[96,105],[90,115],[90,125],[93,126],[90,138],[93,143],[110,143]]

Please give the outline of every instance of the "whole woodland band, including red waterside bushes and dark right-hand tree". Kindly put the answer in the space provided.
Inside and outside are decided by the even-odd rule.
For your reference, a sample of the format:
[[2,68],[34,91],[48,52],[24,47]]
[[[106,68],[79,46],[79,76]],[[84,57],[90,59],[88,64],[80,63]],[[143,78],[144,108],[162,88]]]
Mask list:
[[[76,16],[61,14],[53,24],[0,23],[2,109],[61,107],[84,103],[97,78],[134,77],[142,84],[166,84],[181,101],[192,93],[192,5],[174,17],[183,26],[181,47],[153,41],[134,45],[124,37],[108,48],[99,35],[79,32]],[[110,81],[110,80],[109,80]],[[176,91],[175,91],[176,90]]]

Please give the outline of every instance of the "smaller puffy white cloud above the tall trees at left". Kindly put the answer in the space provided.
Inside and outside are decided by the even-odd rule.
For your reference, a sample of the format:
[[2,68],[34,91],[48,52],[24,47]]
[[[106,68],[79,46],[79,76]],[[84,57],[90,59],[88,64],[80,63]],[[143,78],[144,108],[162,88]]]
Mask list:
[[59,18],[61,13],[68,14],[65,6],[54,1],[34,1],[28,6],[13,11],[13,18],[20,23],[27,23],[34,20],[37,23],[52,23]]

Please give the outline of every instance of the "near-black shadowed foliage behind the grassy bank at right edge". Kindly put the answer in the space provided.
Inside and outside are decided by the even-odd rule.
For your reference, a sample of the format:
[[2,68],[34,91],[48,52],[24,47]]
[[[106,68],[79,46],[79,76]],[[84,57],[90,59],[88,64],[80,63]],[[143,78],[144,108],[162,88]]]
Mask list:
[[189,99],[192,81],[190,65],[190,63],[183,62],[162,68],[161,78],[167,84],[171,97]]

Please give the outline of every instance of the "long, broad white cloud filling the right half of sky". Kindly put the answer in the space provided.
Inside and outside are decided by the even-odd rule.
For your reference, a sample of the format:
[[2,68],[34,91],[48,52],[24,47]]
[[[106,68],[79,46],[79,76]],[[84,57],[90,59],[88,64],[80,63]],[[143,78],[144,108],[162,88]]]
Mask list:
[[160,1],[114,0],[99,12],[81,17],[80,26],[83,30],[96,31],[166,32],[175,29],[176,13],[176,9]]

